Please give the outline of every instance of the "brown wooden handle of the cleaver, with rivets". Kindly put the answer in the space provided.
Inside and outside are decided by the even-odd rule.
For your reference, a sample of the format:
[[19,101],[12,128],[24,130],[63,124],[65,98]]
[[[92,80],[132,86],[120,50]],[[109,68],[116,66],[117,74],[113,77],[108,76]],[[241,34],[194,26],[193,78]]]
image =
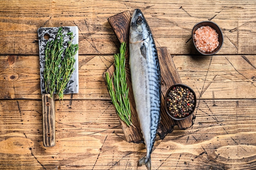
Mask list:
[[42,94],[43,145],[54,146],[55,141],[55,103],[50,94]]

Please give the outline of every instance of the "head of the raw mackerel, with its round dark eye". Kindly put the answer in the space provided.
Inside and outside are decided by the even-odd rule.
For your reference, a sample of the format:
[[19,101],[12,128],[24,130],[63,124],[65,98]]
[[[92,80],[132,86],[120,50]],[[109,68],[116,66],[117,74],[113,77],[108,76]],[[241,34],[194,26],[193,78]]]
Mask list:
[[141,10],[135,9],[130,21],[130,43],[142,42],[149,37],[150,33],[150,28],[143,13]]

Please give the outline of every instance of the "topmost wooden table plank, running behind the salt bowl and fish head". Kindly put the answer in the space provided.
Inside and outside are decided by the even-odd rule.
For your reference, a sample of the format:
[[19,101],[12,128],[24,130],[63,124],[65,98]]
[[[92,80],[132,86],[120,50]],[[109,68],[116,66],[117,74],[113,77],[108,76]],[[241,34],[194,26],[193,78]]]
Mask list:
[[[39,27],[78,26],[80,54],[114,54],[117,38],[107,18],[124,9],[133,12],[135,2],[61,0],[21,3],[1,2],[0,54],[38,54]],[[40,9],[38,9],[40,7]],[[256,46],[256,4],[233,1],[157,1],[141,3],[158,47],[171,54],[196,54],[191,41],[193,26],[202,20],[216,22],[223,31],[224,45],[218,54],[254,54]],[[22,43],[20,43],[22,42]],[[250,42],[250,43],[248,43]]]

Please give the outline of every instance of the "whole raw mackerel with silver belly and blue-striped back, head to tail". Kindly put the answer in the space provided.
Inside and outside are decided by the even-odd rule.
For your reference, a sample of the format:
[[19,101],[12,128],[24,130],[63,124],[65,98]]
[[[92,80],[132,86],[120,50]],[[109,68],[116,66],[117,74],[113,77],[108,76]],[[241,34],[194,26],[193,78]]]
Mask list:
[[160,119],[161,74],[155,41],[139,9],[135,9],[130,22],[129,50],[132,91],[147,150],[138,166],[145,164],[151,170],[150,155]]

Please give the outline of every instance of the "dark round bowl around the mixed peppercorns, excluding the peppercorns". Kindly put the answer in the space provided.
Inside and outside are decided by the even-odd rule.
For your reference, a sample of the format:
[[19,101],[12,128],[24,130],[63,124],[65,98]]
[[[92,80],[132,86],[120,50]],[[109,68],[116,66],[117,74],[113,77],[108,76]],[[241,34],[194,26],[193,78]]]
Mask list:
[[[168,104],[168,97],[170,96],[169,95],[169,93],[170,93],[170,91],[173,91],[173,88],[177,88],[177,87],[182,87],[183,89],[184,88],[186,88],[186,89],[189,89],[189,91],[190,92],[192,92],[193,93],[193,95],[194,95],[194,103],[193,103],[193,105],[192,105],[192,110],[188,113],[188,112],[186,112],[186,113],[188,113],[188,115],[187,114],[185,114],[184,116],[182,116],[182,114],[184,113],[184,111],[181,111],[181,110],[178,110],[178,113],[179,113],[179,115],[181,115],[182,117],[179,117],[179,116],[174,116],[174,114],[172,114],[171,112],[170,112],[170,110],[169,110],[169,104]],[[183,95],[183,94],[182,94]],[[182,99],[181,99],[181,101],[183,101]],[[170,102],[169,102],[170,103]],[[193,91],[193,89],[191,89],[191,87],[189,87],[189,86],[187,86],[187,85],[184,85],[184,84],[175,84],[175,85],[172,85],[169,89],[168,89],[168,91],[167,91],[167,93],[166,93],[166,95],[165,95],[165,100],[164,100],[164,105],[165,105],[165,110],[166,110],[166,113],[169,115],[169,116],[171,116],[171,118],[172,119],[174,119],[174,120],[183,120],[183,119],[187,119],[189,116],[191,116],[192,114],[193,114],[193,112],[194,112],[194,110],[195,110],[195,106],[196,106],[196,96],[195,96],[195,92]],[[174,104],[173,104],[174,105]],[[187,106],[188,107],[188,106]]]

